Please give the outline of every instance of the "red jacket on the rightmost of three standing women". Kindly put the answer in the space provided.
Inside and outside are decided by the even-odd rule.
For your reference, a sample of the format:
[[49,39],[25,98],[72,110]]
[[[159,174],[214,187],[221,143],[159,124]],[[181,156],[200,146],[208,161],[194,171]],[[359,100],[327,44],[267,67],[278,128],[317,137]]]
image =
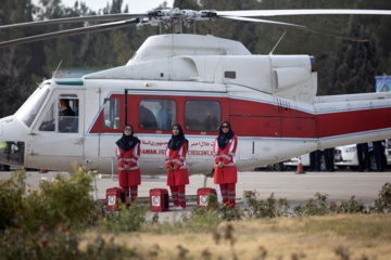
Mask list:
[[[217,140],[218,138],[216,138],[215,144],[213,146],[213,158],[215,161],[214,183],[237,183],[238,172],[236,167],[235,153],[238,146],[238,138],[231,138],[224,150],[218,147]],[[225,166],[223,168],[219,168],[217,166],[218,161],[223,161]]]

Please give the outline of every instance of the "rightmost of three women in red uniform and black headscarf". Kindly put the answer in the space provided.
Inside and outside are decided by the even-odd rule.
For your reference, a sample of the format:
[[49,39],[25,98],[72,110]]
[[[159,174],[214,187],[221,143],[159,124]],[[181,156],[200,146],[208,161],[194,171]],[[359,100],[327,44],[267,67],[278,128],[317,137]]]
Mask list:
[[236,183],[238,172],[236,167],[235,153],[238,146],[238,138],[235,135],[230,123],[223,121],[219,133],[213,147],[215,161],[214,183],[219,184],[223,197],[223,205],[235,207]]

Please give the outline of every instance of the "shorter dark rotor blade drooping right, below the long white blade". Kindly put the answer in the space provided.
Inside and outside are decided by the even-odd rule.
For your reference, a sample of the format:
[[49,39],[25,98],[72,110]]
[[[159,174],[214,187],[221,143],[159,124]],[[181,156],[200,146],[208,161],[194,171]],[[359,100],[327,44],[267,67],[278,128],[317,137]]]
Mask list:
[[295,25],[295,24],[289,24],[289,23],[281,23],[281,22],[275,22],[275,21],[268,21],[268,20],[257,20],[257,18],[249,18],[249,17],[239,17],[239,16],[218,16],[219,18],[227,18],[227,20],[236,20],[236,21],[243,21],[243,22],[255,22],[255,23],[264,23],[264,24],[275,24],[275,25],[282,25],[282,26],[289,26],[301,30],[306,30],[319,35],[327,35],[327,36],[333,36],[346,40],[353,40],[353,41],[360,41],[365,42],[368,41],[367,39],[358,39],[350,36],[345,36],[342,34],[333,32],[333,31],[327,31],[327,30],[319,30],[310,28],[303,25]]

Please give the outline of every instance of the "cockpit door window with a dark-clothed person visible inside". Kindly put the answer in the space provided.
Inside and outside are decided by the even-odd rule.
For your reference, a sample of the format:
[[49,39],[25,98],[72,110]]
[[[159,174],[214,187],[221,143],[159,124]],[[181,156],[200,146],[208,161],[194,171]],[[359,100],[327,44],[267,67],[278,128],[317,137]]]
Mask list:
[[[40,131],[78,132],[78,99],[75,94],[61,94],[53,102],[41,122]],[[58,117],[55,116],[58,114]]]

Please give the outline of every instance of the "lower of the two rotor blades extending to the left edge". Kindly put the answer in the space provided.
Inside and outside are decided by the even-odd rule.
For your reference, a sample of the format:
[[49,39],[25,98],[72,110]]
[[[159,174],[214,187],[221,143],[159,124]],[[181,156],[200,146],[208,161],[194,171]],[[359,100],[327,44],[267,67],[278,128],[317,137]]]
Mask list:
[[49,32],[49,34],[43,34],[43,35],[20,38],[16,40],[3,41],[3,42],[0,42],[0,48],[8,47],[8,46],[22,44],[22,43],[26,43],[26,42],[34,42],[34,41],[38,41],[38,40],[47,40],[47,39],[64,37],[64,36],[74,36],[74,35],[81,35],[81,34],[88,34],[88,32],[116,29],[116,28],[122,28],[122,27],[128,26],[129,24],[137,24],[137,23],[139,23],[139,18],[106,23],[106,24],[99,24],[99,25],[68,29],[68,30],[60,30],[60,31],[54,31],[54,32]]

